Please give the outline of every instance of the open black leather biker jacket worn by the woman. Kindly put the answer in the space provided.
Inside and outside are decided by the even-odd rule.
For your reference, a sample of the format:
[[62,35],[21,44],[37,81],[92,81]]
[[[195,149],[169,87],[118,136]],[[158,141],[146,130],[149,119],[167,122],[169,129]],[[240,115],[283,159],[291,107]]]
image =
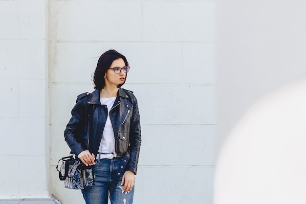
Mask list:
[[[100,103],[100,90],[78,96],[64,132],[65,140],[76,156],[87,149],[97,155],[107,113],[107,106]],[[126,170],[136,174],[141,132],[137,99],[132,91],[119,88],[109,116],[115,135],[115,153],[122,157],[130,150],[131,157]]]

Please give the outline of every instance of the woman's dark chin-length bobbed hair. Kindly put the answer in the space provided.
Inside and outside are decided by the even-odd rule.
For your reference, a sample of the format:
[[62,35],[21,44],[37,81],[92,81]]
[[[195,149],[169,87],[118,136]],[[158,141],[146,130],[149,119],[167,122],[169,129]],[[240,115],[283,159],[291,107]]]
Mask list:
[[[105,79],[104,79],[105,72],[108,70],[108,68],[110,67],[111,63],[114,60],[120,59],[120,58],[123,59],[125,66],[129,66],[127,58],[114,49],[110,49],[109,51],[104,52],[100,56],[98,60],[97,68],[93,74],[93,83],[95,85],[94,89],[98,89],[98,90],[103,89],[103,87],[105,86]],[[125,81],[127,80],[127,75],[125,77]],[[124,85],[125,81],[123,82],[123,84],[119,84],[118,88]]]

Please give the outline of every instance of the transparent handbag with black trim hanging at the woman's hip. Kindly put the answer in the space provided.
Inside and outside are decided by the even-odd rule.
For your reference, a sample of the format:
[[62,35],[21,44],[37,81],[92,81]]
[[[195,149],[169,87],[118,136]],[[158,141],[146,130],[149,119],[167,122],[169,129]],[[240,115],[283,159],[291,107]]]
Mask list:
[[65,188],[84,189],[86,186],[94,185],[93,166],[84,165],[80,159],[75,159],[72,155],[60,159],[56,170],[59,172],[59,179],[64,181]]

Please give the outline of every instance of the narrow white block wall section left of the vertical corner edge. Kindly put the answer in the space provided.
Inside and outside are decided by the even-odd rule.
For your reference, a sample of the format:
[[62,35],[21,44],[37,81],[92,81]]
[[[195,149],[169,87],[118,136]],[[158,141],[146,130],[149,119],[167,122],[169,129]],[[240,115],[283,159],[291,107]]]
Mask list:
[[0,0],[0,199],[49,197],[45,7]]

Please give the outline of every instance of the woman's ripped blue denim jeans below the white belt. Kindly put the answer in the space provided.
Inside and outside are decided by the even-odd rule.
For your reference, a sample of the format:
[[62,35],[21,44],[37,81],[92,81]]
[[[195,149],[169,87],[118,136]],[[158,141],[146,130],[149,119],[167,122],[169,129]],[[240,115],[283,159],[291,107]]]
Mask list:
[[93,167],[94,186],[87,186],[82,190],[86,204],[107,204],[110,200],[111,204],[132,204],[134,187],[130,193],[122,192],[120,188],[122,176],[117,183],[114,193],[109,195],[110,183],[120,167],[121,159],[101,159]]

